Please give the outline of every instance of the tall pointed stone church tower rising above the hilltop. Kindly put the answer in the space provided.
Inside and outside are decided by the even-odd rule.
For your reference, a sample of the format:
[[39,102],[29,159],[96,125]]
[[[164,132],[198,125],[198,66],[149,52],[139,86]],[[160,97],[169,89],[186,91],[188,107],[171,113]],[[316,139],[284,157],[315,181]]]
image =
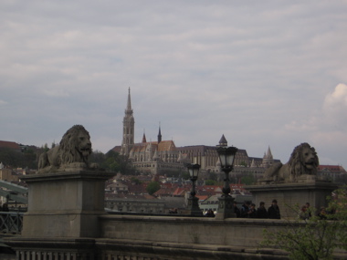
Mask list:
[[131,94],[129,88],[128,103],[125,109],[125,115],[123,118],[123,140],[121,141],[121,155],[129,156],[131,148],[134,143],[134,125],[133,111],[131,109]]

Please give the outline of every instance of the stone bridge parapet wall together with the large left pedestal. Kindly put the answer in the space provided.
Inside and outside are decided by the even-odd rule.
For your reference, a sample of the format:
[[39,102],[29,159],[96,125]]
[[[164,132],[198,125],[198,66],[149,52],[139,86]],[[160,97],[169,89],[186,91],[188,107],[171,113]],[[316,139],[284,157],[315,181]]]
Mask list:
[[[29,187],[23,230],[5,238],[16,259],[288,259],[286,252],[259,247],[263,230],[284,230],[283,220],[106,213],[104,182],[110,174],[23,176]],[[338,259],[347,258],[347,252],[338,253]]]

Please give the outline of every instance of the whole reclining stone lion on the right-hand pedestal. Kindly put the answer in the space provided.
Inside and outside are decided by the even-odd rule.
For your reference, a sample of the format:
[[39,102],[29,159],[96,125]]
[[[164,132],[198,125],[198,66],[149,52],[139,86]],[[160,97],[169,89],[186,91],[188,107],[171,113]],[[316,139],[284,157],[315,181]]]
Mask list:
[[318,165],[317,152],[304,142],[294,148],[286,164],[278,162],[270,166],[261,182],[297,182],[301,175],[316,175]]

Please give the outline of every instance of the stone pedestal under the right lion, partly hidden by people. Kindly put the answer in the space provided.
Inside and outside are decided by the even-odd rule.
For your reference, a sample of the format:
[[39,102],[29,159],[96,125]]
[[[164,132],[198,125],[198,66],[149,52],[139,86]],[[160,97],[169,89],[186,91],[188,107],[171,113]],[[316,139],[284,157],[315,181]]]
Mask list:
[[252,192],[253,203],[259,206],[260,202],[265,203],[265,207],[271,205],[272,200],[278,201],[281,218],[298,217],[298,212],[293,210],[296,205],[300,207],[305,203],[310,203],[311,207],[320,209],[327,206],[327,197],[338,187],[331,182],[320,182],[314,179],[307,179],[304,182],[258,184],[246,186],[247,191]]

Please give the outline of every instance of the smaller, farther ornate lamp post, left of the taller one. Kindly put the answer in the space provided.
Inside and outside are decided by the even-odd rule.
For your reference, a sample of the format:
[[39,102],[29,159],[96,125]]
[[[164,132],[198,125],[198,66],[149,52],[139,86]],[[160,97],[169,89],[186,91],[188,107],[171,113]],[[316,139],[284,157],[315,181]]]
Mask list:
[[188,168],[190,180],[192,181],[192,189],[188,198],[187,209],[190,212],[190,215],[203,215],[203,212],[199,208],[199,199],[195,197],[195,182],[197,180],[197,176],[199,175],[200,165],[188,163],[186,164],[186,167]]

